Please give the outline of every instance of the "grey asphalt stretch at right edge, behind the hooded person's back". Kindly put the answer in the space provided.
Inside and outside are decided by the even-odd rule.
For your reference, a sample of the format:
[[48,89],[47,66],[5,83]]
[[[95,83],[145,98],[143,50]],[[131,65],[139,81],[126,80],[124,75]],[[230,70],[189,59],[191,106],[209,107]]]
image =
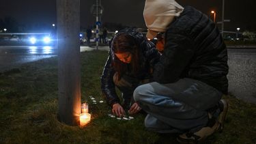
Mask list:
[[256,48],[228,49],[229,92],[236,98],[256,103]]

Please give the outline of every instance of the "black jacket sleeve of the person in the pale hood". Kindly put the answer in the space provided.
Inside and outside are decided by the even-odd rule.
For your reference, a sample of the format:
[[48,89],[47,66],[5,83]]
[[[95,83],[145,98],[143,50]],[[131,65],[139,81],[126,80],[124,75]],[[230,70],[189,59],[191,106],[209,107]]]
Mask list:
[[184,68],[193,57],[193,40],[182,33],[167,31],[165,50],[154,67],[154,81],[174,83],[180,79]]

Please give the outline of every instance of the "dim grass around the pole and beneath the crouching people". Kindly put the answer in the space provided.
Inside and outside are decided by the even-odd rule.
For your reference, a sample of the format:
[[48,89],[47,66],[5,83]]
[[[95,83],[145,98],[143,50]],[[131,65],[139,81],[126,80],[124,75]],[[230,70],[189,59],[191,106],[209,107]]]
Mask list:
[[[106,102],[92,104],[88,96],[103,100],[100,75],[108,53],[81,54],[82,102],[89,102],[91,122],[85,128],[57,120],[57,57],[27,63],[0,74],[0,143],[177,143],[175,136],[145,130],[145,114],[130,121],[108,116]],[[222,133],[205,143],[256,143],[256,104],[234,96]]]

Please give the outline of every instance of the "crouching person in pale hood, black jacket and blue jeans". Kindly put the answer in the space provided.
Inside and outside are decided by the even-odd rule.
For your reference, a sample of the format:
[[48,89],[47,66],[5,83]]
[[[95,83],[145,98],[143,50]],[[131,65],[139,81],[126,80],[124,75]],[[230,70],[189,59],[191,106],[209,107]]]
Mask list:
[[202,141],[223,130],[227,102],[227,48],[216,25],[174,0],[146,0],[147,38],[158,39],[154,81],[137,87],[134,100],[148,113],[145,127],[178,133],[177,141]]

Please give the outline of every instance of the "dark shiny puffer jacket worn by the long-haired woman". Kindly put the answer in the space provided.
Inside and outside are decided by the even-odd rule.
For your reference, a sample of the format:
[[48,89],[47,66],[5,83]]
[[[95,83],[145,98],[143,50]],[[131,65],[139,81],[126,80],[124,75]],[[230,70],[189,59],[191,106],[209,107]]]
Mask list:
[[[155,48],[155,45],[146,40],[143,35],[137,31],[123,31],[132,35],[133,38],[136,39],[137,45],[141,48],[141,69],[138,74],[134,76],[132,72],[126,72],[126,76],[137,78],[138,81],[144,80],[146,78],[152,78],[152,74],[150,74],[150,69],[154,67],[154,64],[159,61],[160,55]],[[106,102],[110,106],[119,102],[119,98],[117,93],[115,92],[115,83],[113,82],[113,76],[115,74],[115,70],[112,66],[113,53],[110,51],[109,57],[106,60],[106,64],[104,66],[104,70],[101,76],[101,89],[104,97],[106,98]],[[130,64],[126,64],[130,65]]]

